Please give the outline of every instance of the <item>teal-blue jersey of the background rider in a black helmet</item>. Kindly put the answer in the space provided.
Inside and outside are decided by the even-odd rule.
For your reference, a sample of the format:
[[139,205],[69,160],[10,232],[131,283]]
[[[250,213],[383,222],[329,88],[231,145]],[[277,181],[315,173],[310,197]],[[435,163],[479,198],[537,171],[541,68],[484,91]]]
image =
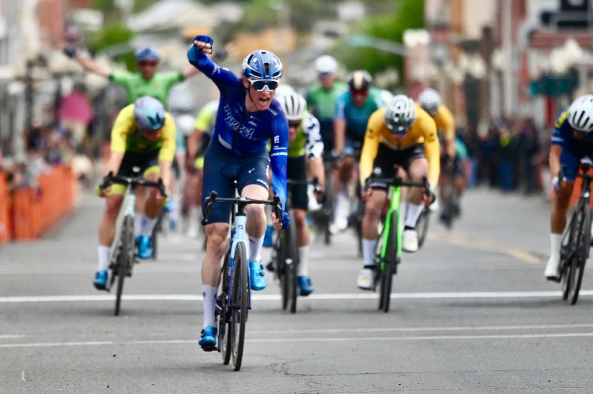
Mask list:
[[356,107],[352,101],[350,91],[346,91],[336,98],[335,119],[346,120],[346,135],[355,141],[364,140],[366,123],[372,113],[385,106],[381,92],[370,88],[368,97],[362,107]]

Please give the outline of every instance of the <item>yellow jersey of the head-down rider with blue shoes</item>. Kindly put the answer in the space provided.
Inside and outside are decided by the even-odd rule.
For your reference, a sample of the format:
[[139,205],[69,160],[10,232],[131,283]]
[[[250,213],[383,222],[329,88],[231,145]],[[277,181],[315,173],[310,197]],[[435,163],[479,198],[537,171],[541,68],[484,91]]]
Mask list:
[[158,159],[172,162],[175,157],[176,130],[175,122],[167,112],[165,113],[165,123],[158,131],[160,139],[149,139],[144,132],[136,127],[134,104],[130,104],[123,107],[117,114],[113,129],[111,129],[111,150],[144,153],[159,149]]

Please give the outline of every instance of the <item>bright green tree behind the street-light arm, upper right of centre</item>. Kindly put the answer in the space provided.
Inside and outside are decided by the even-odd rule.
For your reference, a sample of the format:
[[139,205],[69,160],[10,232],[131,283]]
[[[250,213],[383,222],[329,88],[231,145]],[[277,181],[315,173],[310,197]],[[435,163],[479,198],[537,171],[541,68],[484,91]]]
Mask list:
[[[380,39],[403,42],[403,33],[409,28],[424,27],[424,0],[401,0],[393,14],[366,18],[358,33]],[[381,52],[373,48],[353,48],[342,42],[334,49],[334,55],[348,69],[366,69],[372,74],[395,67],[403,76],[403,58],[399,55]],[[403,78],[400,78],[403,81]]]

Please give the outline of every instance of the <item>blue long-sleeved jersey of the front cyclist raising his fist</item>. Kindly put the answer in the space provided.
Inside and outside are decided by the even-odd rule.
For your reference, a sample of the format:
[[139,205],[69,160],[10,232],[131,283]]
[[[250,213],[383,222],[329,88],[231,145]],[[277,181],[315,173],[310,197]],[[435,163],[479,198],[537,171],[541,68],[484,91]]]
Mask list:
[[273,100],[265,111],[248,112],[245,106],[247,89],[240,77],[216,65],[193,45],[187,51],[187,59],[221,92],[212,141],[237,156],[246,156],[267,150],[267,142],[272,140],[272,188],[285,207],[288,121],[279,102]]

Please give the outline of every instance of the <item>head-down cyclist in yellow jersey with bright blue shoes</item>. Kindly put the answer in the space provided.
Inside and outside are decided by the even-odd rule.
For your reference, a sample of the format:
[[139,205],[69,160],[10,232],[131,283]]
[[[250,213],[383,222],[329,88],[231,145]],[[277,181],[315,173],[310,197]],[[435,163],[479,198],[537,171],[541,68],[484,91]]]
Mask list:
[[[175,156],[175,134],[173,118],[165,113],[161,102],[152,97],[139,98],[117,114],[111,130],[111,153],[106,173],[131,176],[133,168],[138,167],[148,180],[157,181],[161,178],[168,192],[171,164]],[[125,186],[119,184],[107,188],[97,186],[98,196],[106,198],[99,228],[98,265],[94,281],[98,290],[106,289],[109,250],[124,192]],[[138,255],[140,258],[150,258],[152,229],[164,201],[154,188],[147,191],[146,188],[138,187],[137,196],[134,229]]]

